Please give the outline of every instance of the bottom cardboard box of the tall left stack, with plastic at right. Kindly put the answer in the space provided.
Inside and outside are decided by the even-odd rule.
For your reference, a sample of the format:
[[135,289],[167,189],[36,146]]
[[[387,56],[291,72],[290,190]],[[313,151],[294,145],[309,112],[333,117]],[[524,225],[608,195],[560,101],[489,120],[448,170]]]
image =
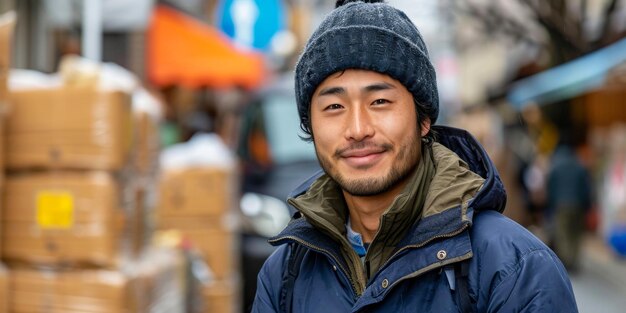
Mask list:
[[124,270],[15,268],[6,299],[12,313],[183,312],[183,266],[181,254],[159,250]]

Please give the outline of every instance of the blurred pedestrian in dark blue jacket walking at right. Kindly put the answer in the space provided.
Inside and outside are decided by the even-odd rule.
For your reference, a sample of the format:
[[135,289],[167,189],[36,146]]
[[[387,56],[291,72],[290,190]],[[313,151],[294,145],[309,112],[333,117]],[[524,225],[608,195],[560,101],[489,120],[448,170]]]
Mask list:
[[546,221],[554,251],[569,271],[576,271],[591,208],[591,179],[567,135],[562,138],[548,172]]

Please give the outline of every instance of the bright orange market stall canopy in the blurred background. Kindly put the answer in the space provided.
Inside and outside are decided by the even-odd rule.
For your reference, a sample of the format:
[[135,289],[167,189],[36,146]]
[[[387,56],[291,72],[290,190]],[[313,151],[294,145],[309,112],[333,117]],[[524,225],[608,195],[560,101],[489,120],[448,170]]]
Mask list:
[[148,28],[148,79],[190,88],[261,85],[263,56],[240,50],[217,29],[175,9],[155,7]]

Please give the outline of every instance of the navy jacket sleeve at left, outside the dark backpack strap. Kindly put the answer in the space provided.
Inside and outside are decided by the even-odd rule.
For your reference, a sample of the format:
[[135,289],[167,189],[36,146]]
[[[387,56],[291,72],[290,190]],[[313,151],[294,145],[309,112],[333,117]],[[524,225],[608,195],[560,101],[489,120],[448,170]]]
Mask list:
[[282,245],[265,261],[257,277],[252,313],[278,313],[282,276],[288,245]]

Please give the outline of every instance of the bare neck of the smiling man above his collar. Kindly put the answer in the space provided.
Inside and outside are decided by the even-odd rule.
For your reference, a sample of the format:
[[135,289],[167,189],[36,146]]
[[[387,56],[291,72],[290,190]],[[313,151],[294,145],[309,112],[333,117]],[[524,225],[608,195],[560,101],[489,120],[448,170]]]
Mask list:
[[371,243],[374,240],[380,226],[380,217],[407,183],[404,181],[384,193],[373,196],[355,196],[343,191],[352,229],[361,234],[363,242]]

